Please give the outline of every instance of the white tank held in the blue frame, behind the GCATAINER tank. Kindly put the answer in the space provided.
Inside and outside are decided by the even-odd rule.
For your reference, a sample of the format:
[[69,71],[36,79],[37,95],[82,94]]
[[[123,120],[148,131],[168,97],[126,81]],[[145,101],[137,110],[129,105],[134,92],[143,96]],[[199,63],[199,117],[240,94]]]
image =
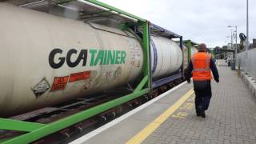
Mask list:
[[153,79],[174,73],[182,66],[182,50],[168,38],[151,36],[150,50]]

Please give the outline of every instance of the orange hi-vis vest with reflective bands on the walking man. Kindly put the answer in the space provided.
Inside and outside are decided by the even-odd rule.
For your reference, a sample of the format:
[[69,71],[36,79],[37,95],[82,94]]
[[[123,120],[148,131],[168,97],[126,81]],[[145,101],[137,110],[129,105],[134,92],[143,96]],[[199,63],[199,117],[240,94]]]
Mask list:
[[206,81],[212,79],[210,73],[211,54],[206,52],[198,52],[191,58],[193,64],[193,80]]

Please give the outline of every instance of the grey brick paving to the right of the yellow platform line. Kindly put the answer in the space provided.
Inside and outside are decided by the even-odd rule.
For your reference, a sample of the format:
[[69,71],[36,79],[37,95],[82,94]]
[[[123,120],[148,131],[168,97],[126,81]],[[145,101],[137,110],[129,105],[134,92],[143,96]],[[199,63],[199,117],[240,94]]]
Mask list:
[[250,90],[224,62],[220,82],[212,82],[213,97],[206,118],[192,110],[186,117],[171,116],[142,143],[256,143],[256,102]]

